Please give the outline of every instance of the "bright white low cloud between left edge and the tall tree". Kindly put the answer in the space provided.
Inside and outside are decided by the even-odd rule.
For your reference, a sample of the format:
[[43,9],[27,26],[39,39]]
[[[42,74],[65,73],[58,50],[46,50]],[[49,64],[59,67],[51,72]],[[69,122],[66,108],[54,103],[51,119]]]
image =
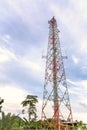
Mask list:
[[15,85],[0,85],[0,97],[4,99],[2,110],[6,113],[17,113],[22,110],[21,102],[25,99],[28,92]]

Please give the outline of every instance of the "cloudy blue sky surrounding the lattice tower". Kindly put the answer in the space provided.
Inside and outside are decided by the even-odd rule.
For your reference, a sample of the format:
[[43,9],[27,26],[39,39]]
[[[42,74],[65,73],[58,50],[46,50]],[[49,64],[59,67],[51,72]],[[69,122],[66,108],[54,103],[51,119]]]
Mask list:
[[44,86],[48,20],[55,16],[74,120],[87,122],[87,1],[0,0],[0,96],[5,112],[20,113],[27,94]]

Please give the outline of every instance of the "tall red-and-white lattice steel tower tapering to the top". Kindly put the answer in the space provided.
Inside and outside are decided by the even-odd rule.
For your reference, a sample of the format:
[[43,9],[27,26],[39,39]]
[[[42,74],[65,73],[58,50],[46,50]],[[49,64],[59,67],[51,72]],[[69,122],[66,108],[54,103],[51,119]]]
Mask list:
[[58,33],[53,17],[49,21],[41,120],[42,127],[62,130],[64,124],[73,122],[73,118]]

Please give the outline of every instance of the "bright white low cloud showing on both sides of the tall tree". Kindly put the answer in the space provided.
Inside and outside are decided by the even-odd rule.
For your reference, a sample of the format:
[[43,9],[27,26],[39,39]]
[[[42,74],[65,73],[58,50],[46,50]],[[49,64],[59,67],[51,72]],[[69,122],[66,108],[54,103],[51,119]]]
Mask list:
[[[0,85],[0,97],[4,99],[4,103],[2,104],[2,111],[5,113],[14,113],[19,114],[21,117],[27,118],[27,114],[22,114],[22,105],[21,102],[25,100],[26,96],[31,94],[25,89],[21,89],[16,85],[8,84],[5,86]],[[42,109],[42,100],[38,99],[37,107],[37,115],[38,119],[41,119],[41,109]]]

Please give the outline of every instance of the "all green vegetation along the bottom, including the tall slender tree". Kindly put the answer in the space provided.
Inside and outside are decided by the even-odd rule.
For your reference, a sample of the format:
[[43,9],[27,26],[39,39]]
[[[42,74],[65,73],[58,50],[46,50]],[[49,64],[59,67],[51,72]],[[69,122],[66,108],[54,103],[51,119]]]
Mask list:
[[[0,109],[2,108],[2,103],[4,102],[3,99],[0,98]],[[26,99],[22,101],[22,105],[24,107],[23,113],[25,112],[25,107],[27,107],[28,119],[23,118],[21,119],[18,115],[14,115],[8,113],[5,115],[4,112],[2,113],[2,119],[0,120],[0,130],[36,130],[42,128],[48,128],[47,122],[50,123],[51,128],[54,128],[52,119],[47,119],[47,121],[36,121],[36,103],[38,102],[37,96],[27,95]],[[76,121],[76,124],[72,126],[70,129],[77,130],[80,128],[81,130],[87,130],[86,124],[82,121]]]

